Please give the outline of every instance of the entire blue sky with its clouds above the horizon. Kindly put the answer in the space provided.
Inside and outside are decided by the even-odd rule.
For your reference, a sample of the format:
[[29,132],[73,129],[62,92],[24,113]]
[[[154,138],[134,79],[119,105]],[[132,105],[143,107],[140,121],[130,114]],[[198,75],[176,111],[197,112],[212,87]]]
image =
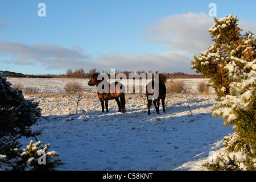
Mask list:
[[[39,3],[46,17],[39,17]],[[194,73],[193,55],[210,44],[217,18],[229,14],[256,32],[255,1],[3,1],[0,70],[61,74],[67,69]]]

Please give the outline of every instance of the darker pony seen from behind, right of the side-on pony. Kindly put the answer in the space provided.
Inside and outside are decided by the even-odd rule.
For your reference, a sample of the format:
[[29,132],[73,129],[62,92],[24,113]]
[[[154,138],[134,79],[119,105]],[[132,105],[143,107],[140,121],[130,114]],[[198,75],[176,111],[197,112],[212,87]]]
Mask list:
[[[166,83],[166,76],[160,73],[158,80],[159,81],[154,81],[154,78],[153,78],[153,80],[149,82],[146,87],[148,114],[150,114],[150,106],[152,105],[152,99],[149,99],[148,97],[153,96],[154,94],[158,95],[158,97],[154,98],[154,101],[153,101],[156,113],[160,114],[159,113],[160,100],[162,100],[163,113],[166,112],[166,109],[164,107],[164,100],[166,99],[166,85],[164,84]],[[158,89],[155,89],[155,88],[158,88]]]

